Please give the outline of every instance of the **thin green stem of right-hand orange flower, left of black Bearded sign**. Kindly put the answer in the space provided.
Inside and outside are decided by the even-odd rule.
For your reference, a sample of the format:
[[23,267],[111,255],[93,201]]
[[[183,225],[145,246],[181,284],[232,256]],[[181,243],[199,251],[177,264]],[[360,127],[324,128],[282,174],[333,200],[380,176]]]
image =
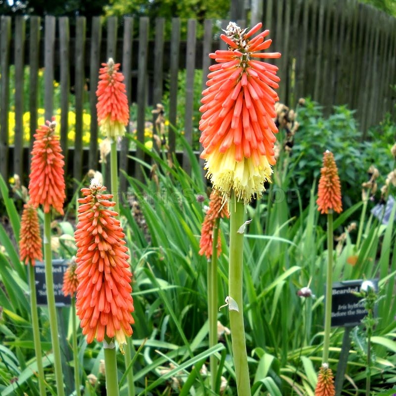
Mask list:
[[331,332],[331,298],[333,285],[333,212],[327,214],[327,276],[325,299],[325,335],[323,341],[323,363],[329,362],[330,332]]

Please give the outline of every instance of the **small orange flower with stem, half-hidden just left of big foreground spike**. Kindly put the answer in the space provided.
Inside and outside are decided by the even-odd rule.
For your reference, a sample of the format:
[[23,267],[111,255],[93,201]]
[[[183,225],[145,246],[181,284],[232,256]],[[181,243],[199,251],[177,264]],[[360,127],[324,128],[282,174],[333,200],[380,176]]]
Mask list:
[[80,365],[78,363],[78,345],[77,345],[77,323],[76,323],[76,291],[78,279],[76,274],[77,264],[73,257],[70,265],[63,275],[63,295],[71,297],[71,317],[72,317],[72,346],[73,346],[73,363],[74,363],[74,386],[76,396],[81,396],[80,390]]

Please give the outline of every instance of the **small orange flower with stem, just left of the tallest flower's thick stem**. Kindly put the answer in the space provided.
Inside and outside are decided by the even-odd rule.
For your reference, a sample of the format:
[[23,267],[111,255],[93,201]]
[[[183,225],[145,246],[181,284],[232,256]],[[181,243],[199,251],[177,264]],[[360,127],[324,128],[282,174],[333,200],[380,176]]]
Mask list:
[[[226,202],[213,190],[209,198],[209,207],[202,224],[201,238],[199,241],[199,254],[205,254],[208,260],[207,268],[207,300],[209,322],[209,347],[217,344],[217,261],[221,253],[220,218],[229,217]],[[210,355],[210,384],[216,392],[217,361]]]

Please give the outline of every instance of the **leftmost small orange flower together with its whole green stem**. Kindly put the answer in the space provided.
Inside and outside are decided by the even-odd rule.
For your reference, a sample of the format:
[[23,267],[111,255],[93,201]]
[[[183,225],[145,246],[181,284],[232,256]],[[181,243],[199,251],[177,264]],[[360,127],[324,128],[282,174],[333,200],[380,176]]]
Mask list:
[[43,260],[42,240],[40,237],[39,216],[37,215],[35,207],[30,203],[25,204],[22,212],[20,236],[20,259],[29,266],[30,309],[32,314],[33,341],[37,361],[39,391],[40,396],[46,396],[46,384],[40,341],[40,325],[34,273],[35,261]]

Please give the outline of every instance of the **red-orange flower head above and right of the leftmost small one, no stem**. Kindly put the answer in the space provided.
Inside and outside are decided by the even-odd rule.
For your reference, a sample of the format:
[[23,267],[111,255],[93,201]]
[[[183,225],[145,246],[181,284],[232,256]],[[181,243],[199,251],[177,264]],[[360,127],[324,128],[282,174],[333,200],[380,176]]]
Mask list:
[[51,206],[63,214],[65,195],[64,160],[59,138],[55,135],[56,122],[47,121],[36,130],[32,150],[29,181],[30,202],[43,205],[45,213]]

